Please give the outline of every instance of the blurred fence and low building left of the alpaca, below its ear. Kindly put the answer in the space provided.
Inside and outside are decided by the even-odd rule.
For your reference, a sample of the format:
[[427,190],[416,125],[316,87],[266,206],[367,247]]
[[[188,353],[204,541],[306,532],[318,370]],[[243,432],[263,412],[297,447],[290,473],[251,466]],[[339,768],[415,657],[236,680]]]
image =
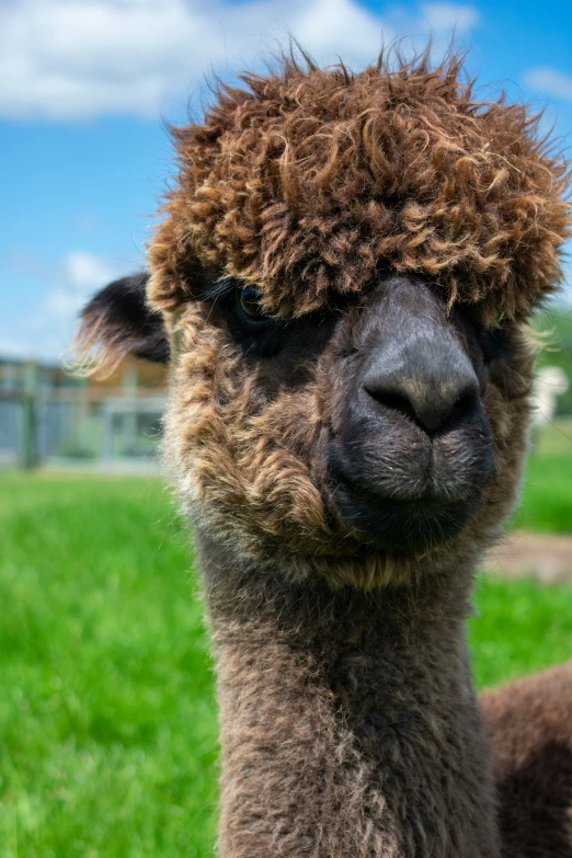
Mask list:
[[2,366],[0,464],[156,469],[167,402],[163,388],[139,387],[133,369],[123,373],[122,386],[101,387],[71,379],[57,367],[15,362]]

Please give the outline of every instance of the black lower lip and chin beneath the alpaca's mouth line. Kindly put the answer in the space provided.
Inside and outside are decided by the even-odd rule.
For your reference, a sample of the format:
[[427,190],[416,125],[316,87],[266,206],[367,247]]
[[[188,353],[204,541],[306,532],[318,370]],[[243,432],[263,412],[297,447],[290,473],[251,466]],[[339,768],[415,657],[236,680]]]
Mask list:
[[375,494],[338,478],[333,499],[340,517],[368,545],[384,551],[426,550],[446,542],[472,518],[482,491],[464,499],[435,495],[402,500]]

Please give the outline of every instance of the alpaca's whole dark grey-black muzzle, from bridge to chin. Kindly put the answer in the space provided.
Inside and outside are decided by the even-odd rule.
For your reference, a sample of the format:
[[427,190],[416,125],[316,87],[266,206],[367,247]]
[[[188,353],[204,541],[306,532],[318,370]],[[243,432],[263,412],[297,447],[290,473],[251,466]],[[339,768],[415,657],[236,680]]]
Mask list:
[[380,284],[362,313],[359,361],[329,445],[334,502],[366,541],[424,548],[464,527],[493,472],[478,335],[409,278]]

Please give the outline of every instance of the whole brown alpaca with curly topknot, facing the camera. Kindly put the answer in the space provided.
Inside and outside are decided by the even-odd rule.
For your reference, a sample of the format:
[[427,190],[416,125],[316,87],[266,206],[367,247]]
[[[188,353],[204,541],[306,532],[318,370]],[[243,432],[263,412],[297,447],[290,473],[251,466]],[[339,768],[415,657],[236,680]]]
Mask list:
[[[550,744],[571,672],[537,679],[541,699],[485,698],[493,757],[465,628],[520,482],[524,325],[560,277],[567,167],[526,107],[479,102],[460,75],[285,60],[221,88],[174,130],[150,275],[83,313],[100,366],[169,342],[224,858],[572,855],[570,721]],[[529,754],[531,799],[510,788]],[[520,837],[518,802],[557,781],[553,831]]]

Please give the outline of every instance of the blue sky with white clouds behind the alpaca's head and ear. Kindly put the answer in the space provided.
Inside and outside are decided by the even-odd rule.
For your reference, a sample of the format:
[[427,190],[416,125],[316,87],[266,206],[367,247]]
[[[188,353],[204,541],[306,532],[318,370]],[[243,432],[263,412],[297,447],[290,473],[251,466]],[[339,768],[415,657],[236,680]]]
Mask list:
[[57,358],[87,297],[144,265],[173,170],[163,119],[286,28],[355,68],[401,35],[438,56],[455,30],[489,92],[546,106],[572,147],[571,3],[0,0],[0,354]]

